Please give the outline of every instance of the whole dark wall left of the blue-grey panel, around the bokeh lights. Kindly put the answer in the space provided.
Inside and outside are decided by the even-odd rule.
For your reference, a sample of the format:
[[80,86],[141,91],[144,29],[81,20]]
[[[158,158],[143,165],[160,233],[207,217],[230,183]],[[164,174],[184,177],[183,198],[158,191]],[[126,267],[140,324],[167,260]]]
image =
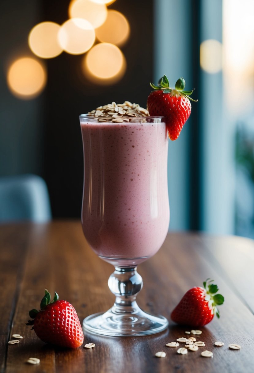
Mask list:
[[[28,34],[43,21],[68,19],[70,0],[2,0],[0,12],[0,176],[35,173],[47,182],[53,217],[80,217],[83,154],[79,114],[112,101],[146,104],[153,70],[153,0],[117,0],[131,35],[121,48],[127,71],[112,86],[95,86],[81,73],[81,56],[62,53],[42,60],[48,70],[45,90],[21,100],[6,83],[9,64],[34,56]],[[34,56],[35,57],[35,56]],[[36,57],[35,57],[36,58]]]

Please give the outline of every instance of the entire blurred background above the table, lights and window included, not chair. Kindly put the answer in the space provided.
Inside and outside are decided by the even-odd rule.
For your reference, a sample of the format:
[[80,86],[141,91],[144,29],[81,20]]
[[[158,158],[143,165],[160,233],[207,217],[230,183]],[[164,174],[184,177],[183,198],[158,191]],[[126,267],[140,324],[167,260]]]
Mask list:
[[170,230],[254,238],[253,15],[253,0],[2,0],[0,185],[41,176],[52,217],[79,218],[79,114],[145,107],[150,81],[183,76],[199,102],[169,142]]

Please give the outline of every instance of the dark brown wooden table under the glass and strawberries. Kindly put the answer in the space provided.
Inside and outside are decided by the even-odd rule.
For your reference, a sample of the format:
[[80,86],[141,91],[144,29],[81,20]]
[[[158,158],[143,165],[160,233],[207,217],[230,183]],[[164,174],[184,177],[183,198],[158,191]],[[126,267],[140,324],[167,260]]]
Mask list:
[[[190,328],[174,325],[152,336],[111,338],[86,333],[83,347],[63,350],[41,342],[25,323],[28,310],[38,308],[44,288],[70,301],[84,317],[111,307],[107,280],[113,267],[99,259],[83,237],[80,222],[0,226],[0,372],[110,373],[253,373],[254,372],[254,241],[201,233],[169,233],[161,250],[139,266],[144,287],[139,305],[169,318],[185,291],[213,278],[225,296],[220,320],[213,320],[197,340],[206,346],[187,355],[165,347]],[[7,345],[19,333],[19,344]],[[223,341],[223,347],[215,347]],[[229,350],[229,343],[241,345]],[[201,357],[202,350],[213,358]],[[165,351],[165,358],[156,358]],[[39,365],[26,360],[37,357]]]

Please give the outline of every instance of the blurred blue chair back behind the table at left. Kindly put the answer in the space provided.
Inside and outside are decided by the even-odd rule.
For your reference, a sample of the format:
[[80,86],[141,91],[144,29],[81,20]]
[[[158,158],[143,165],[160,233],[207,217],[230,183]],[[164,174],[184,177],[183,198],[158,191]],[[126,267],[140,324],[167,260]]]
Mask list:
[[45,181],[36,175],[0,178],[0,223],[51,219],[50,199]]

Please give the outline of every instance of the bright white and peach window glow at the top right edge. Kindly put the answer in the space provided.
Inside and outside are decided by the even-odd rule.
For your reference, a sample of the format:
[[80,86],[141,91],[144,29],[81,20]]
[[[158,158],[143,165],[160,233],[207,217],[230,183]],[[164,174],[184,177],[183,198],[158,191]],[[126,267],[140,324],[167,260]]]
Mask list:
[[225,102],[233,115],[242,115],[242,113],[253,111],[253,14],[253,0],[223,0]]

